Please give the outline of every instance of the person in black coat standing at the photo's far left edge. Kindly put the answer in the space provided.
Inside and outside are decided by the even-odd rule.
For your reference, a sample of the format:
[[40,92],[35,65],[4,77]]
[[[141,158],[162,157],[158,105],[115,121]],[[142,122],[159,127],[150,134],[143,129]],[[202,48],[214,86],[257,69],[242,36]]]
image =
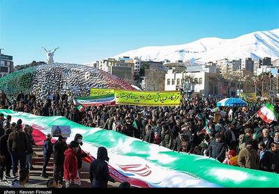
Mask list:
[[0,163],[0,179],[3,179],[4,168],[6,168],[6,177],[10,177],[10,169],[12,168],[12,159],[10,152],[8,152],[8,136],[11,133],[11,129],[5,131],[5,135],[0,138],[0,157],[2,162]]

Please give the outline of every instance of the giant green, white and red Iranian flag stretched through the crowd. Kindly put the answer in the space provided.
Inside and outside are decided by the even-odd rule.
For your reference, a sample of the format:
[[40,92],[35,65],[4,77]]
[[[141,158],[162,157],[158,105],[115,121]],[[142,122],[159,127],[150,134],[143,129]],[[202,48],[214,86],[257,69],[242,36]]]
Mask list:
[[172,152],[165,147],[142,142],[116,131],[84,127],[64,117],[40,117],[29,113],[0,110],[12,122],[22,119],[33,126],[36,143],[43,143],[44,134],[52,125],[70,125],[67,143],[82,134],[84,152],[92,161],[98,147],[107,148],[110,175],[116,181],[129,181],[137,187],[279,187],[279,175],[219,163],[206,156]]

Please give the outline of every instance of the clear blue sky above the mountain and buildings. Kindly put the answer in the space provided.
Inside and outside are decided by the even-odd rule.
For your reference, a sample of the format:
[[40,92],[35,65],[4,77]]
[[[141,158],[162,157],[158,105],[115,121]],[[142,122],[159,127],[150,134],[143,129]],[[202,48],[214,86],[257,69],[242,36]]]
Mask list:
[[0,0],[0,48],[15,65],[86,63],[151,45],[279,28],[277,0]]

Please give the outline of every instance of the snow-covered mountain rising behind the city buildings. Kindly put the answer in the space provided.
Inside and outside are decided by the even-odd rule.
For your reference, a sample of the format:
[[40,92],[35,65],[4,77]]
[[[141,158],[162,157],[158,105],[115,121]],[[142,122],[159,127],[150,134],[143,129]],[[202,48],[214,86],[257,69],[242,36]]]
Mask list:
[[112,56],[112,58],[123,56],[130,56],[130,58],[137,56],[141,60],[163,61],[167,59],[171,62],[186,61],[191,58],[200,62],[247,57],[254,60],[271,57],[271,60],[276,60],[279,58],[279,29],[257,31],[233,39],[202,38],[185,45],[142,47]]

